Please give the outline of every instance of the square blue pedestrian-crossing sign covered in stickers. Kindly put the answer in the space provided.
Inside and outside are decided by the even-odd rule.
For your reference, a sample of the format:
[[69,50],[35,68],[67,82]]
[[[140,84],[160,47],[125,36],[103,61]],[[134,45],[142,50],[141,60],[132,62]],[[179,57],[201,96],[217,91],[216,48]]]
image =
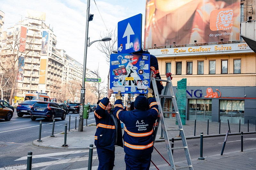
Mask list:
[[110,55],[110,88],[115,93],[145,94],[149,85],[149,54]]

